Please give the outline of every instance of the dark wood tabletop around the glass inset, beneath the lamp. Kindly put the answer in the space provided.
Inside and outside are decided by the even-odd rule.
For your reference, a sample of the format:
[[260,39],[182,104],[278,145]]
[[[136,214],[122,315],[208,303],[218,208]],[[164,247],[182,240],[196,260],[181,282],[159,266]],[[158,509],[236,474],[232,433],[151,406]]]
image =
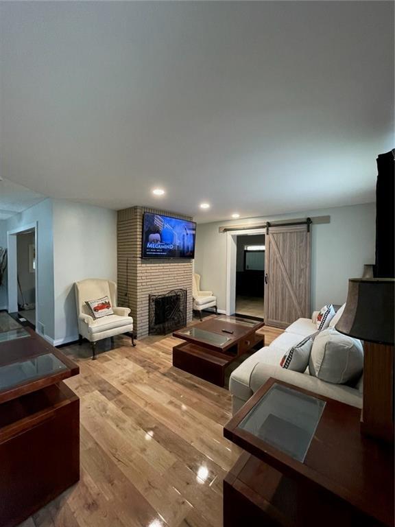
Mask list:
[[[304,462],[239,428],[239,423],[274,384],[326,401]],[[324,491],[346,502],[363,515],[366,525],[390,527],[394,525],[394,453],[390,445],[361,434],[360,415],[361,410],[353,406],[269,379],[224,427],[224,436],[252,454],[256,467],[262,465],[259,470],[269,465],[276,473],[307,485],[315,493]],[[244,464],[247,461],[244,458]],[[235,471],[233,474],[230,480],[235,482]]]

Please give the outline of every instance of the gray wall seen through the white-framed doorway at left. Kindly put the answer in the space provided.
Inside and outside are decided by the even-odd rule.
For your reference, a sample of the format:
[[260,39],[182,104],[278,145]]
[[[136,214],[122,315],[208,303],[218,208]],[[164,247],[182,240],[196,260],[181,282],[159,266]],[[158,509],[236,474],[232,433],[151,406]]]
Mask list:
[[34,233],[21,233],[16,237],[16,261],[21,292],[18,290],[18,303],[34,304],[36,301],[36,273],[29,270],[29,246],[34,245]]

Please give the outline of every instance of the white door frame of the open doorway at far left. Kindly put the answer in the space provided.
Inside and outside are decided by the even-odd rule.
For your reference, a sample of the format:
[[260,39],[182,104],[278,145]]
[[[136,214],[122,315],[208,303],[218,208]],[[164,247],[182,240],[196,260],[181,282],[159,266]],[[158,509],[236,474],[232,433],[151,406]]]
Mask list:
[[8,249],[8,312],[17,313],[18,309],[18,250],[16,246],[16,235],[24,233],[25,231],[34,230],[34,246],[36,248],[36,272],[34,273],[35,281],[35,295],[36,295],[36,327],[38,323],[38,250],[37,250],[37,236],[38,236],[38,222],[29,223],[7,231],[7,249]]

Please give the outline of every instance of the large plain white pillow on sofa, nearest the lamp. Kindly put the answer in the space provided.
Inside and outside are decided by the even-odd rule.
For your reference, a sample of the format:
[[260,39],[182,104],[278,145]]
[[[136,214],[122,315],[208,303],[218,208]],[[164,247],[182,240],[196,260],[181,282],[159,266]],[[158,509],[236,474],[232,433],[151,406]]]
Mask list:
[[333,384],[357,381],[363,370],[360,340],[324,329],[314,339],[309,359],[310,375]]

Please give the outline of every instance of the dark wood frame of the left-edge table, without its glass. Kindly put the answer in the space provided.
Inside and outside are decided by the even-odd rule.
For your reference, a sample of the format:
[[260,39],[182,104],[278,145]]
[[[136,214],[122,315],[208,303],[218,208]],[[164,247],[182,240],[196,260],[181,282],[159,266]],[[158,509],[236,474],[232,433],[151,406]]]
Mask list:
[[62,382],[79,373],[32,329],[0,342],[0,367],[52,353],[66,366],[0,390],[0,525],[14,527],[80,479],[80,399]]

